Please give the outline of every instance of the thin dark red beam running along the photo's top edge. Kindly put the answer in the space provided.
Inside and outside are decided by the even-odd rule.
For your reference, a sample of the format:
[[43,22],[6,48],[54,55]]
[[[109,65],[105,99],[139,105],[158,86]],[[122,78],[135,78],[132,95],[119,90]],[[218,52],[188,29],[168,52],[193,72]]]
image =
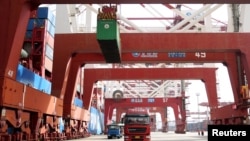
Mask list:
[[247,0],[36,0],[43,4],[104,4],[104,3],[117,3],[117,4],[161,4],[161,3],[188,3],[188,4],[247,4]]

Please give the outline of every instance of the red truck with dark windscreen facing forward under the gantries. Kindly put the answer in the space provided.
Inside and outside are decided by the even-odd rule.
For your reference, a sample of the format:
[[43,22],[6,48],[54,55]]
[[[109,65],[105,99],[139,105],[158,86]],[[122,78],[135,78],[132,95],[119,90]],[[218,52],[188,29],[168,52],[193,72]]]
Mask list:
[[150,141],[150,115],[144,109],[129,109],[122,118],[124,141]]

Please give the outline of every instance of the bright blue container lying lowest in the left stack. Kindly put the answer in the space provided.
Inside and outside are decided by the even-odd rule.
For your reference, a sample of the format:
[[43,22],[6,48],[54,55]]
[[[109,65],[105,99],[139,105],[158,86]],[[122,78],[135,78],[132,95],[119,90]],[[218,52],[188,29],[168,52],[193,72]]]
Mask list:
[[32,86],[34,89],[51,94],[51,82],[25,68],[21,64],[19,64],[17,68],[16,80]]

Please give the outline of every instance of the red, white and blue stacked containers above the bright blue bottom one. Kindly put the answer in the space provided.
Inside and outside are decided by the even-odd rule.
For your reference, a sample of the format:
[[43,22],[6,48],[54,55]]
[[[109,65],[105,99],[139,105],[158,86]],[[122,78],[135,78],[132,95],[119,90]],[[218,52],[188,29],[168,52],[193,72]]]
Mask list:
[[55,15],[48,7],[39,7],[29,19],[24,50],[32,62],[29,68],[47,79],[52,73],[54,36]]

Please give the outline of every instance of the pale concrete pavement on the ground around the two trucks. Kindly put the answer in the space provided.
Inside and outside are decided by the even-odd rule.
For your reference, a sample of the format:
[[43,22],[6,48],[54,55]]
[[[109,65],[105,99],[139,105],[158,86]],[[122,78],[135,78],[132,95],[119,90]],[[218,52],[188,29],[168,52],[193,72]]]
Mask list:
[[[70,141],[104,141],[115,140],[124,141],[124,138],[120,139],[108,139],[107,135],[91,135],[88,138],[74,139]],[[151,132],[151,141],[207,141],[207,132],[204,132],[204,136],[199,136],[197,132],[187,132],[186,134],[176,134],[174,132]]]

